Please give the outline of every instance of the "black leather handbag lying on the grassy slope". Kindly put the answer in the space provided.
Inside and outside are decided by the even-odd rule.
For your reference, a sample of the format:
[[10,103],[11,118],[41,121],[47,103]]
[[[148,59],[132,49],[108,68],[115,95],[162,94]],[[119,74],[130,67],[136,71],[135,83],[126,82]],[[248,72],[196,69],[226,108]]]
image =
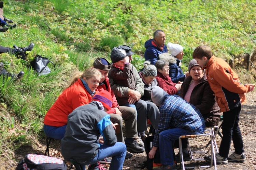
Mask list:
[[47,57],[42,57],[41,55],[36,55],[31,62],[31,67],[40,75],[49,74],[51,69],[47,66],[49,63],[52,63],[55,68],[55,64],[49,60]]

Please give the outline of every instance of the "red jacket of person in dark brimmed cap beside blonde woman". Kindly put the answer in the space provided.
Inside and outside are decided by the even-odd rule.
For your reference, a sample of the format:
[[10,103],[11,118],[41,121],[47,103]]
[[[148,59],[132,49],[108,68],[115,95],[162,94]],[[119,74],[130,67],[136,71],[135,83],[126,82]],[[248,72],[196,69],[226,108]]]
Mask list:
[[111,89],[110,83],[109,83],[109,78],[107,77],[96,89],[96,91],[103,91],[106,90],[108,92],[110,92],[111,96],[112,96],[112,107],[111,109],[107,112],[108,114],[110,113],[116,113],[116,109],[115,107],[117,107],[119,109],[119,105],[116,101],[116,97],[114,94],[114,91]]

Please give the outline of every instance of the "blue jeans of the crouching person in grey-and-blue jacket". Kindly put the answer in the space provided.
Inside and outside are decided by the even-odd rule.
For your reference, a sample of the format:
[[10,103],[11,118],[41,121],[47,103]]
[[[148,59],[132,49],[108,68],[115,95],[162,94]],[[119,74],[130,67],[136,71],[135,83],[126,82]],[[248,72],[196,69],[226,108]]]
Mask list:
[[88,160],[83,165],[85,170],[85,165],[92,165],[106,157],[112,157],[109,170],[122,170],[126,155],[126,145],[122,142],[116,142],[115,145],[101,145],[98,154],[95,158]]

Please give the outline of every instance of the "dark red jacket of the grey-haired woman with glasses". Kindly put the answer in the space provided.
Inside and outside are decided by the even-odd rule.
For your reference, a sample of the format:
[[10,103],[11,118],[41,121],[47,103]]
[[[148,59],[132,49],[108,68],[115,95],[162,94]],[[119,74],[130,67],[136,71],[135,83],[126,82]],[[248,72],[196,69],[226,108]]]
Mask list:
[[176,83],[173,83],[169,75],[164,77],[162,73],[157,71],[156,80],[158,86],[165,90],[169,95],[175,95],[178,90],[175,87]]

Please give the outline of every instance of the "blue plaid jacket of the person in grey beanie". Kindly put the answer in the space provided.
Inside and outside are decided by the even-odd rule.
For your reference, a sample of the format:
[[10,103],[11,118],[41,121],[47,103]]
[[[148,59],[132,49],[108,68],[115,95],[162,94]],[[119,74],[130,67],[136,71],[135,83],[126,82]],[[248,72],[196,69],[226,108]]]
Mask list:
[[172,128],[182,128],[191,133],[204,124],[199,109],[177,95],[166,95],[160,106],[160,121],[154,136],[153,146],[159,147],[159,133]]

